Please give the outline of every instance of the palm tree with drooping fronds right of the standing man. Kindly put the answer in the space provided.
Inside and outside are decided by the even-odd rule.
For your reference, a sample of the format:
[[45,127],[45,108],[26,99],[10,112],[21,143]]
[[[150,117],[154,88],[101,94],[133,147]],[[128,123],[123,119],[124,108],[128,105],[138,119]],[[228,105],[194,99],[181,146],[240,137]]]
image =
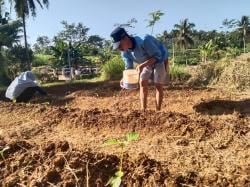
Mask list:
[[[194,41],[191,37],[193,33],[193,28],[195,27],[194,23],[189,23],[188,19],[181,20],[180,24],[175,24],[174,27],[176,28],[177,32],[177,44],[182,49],[183,53],[186,51],[188,46],[194,44]],[[185,53],[186,57],[186,53]],[[187,58],[186,58],[187,64]]]

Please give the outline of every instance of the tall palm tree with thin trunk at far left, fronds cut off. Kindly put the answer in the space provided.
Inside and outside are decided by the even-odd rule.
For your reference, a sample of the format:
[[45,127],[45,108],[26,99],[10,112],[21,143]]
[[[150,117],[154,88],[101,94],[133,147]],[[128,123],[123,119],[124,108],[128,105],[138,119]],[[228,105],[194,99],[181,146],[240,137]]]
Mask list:
[[26,33],[26,17],[28,17],[31,13],[33,17],[36,16],[36,4],[40,5],[41,8],[46,6],[48,8],[49,1],[48,0],[10,0],[11,5],[14,4],[14,9],[17,13],[17,16],[19,18],[22,18],[23,21],[23,32],[24,32],[24,44],[26,49],[26,57],[27,57],[27,66],[28,69],[31,68],[30,64],[30,58],[29,58],[29,52],[28,52],[28,43],[27,43],[27,33]]

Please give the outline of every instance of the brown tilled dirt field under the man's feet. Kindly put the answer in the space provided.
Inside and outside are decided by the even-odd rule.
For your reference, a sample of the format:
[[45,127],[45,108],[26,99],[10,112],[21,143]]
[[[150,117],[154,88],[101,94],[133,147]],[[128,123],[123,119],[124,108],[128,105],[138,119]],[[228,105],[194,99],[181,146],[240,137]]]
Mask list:
[[57,86],[30,103],[0,101],[0,186],[104,186],[127,132],[122,186],[250,186],[250,93],[164,90],[161,112],[139,109],[119,83]]

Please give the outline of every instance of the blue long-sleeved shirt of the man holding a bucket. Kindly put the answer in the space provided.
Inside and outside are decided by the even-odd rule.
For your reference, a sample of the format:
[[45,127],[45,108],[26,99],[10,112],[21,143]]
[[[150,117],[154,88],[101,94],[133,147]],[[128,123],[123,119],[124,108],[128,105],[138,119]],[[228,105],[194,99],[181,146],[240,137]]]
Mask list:
[[133,69],[133,62],[141,64],[150,58],[155,58],[156,63],[163,63],[168,58],[167,49],[153,36],[146,35],[143,39],[135,36],[131,39],[133,48],[121,53],[125,69]]

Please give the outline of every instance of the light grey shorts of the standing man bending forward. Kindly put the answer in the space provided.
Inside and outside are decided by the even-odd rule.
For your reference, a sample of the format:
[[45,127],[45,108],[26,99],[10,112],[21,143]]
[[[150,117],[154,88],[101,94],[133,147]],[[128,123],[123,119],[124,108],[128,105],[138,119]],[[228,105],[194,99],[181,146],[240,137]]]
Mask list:
[[141,74],[140,80],[152,79],[155,84],[167,84],[169,82],[168,66],[165,68],[165,63],[157,63],[151,66],[144,67]]

